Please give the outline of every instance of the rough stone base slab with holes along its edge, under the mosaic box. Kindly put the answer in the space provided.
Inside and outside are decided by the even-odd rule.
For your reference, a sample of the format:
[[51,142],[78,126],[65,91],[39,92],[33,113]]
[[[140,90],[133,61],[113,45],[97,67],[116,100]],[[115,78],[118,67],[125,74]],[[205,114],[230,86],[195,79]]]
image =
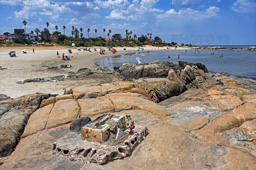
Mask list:
[[133,135],[128,135],[128,131],[125,133],[113,143],[100,144],[84,141],[81,138],[81,133],[70,132],[53,144],[52,153],[69,161],[95,162],[97,164],[123,159],[131,155],[134,148],[149,134],[149,130],[136,125]]

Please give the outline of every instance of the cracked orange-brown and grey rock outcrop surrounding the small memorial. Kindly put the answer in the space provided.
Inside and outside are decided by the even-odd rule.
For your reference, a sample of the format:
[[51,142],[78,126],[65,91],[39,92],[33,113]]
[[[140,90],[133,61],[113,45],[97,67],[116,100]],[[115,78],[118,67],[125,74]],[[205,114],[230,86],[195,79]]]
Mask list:
[[[67,87],[64,95],[32,94],[2,100],[0,169],[254,170],[256,80],[207,73],[198,63],[180,65],[161,61],[126,64],[115,70],[133,82],[85,82]],[[80,118],[93,120],[105,113],[131,115],[150,134],[125,159],[126,151],[118,147],[111,154],[79,144],[65,149],[69,142],[65,140],[71,137],[64,136],[78,134],[70,132],[70,127],[79,130]],[[52,154],[52,147],[59,156]],[[77,156],[72,158],[71,153]],[[105,158],[122,160],[101,165],[74,161],[100,162],[100,155],[102,163]]]

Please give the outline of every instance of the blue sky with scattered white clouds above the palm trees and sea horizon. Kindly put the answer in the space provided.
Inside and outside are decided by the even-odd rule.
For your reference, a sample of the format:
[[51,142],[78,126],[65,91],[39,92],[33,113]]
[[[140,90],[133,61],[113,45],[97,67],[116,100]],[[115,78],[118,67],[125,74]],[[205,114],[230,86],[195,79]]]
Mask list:
[[132,31],[166,42],[193,45],[256,45],[256,0],[0,0],[0,34],[24,28],[84,37]]

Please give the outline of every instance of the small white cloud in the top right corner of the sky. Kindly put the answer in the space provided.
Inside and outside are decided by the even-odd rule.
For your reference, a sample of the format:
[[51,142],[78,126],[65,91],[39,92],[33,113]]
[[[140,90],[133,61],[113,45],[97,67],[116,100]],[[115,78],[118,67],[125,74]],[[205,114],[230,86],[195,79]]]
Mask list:
[[256,13],[255,0],[237,0],[231,7],[232,11],[239,13]]

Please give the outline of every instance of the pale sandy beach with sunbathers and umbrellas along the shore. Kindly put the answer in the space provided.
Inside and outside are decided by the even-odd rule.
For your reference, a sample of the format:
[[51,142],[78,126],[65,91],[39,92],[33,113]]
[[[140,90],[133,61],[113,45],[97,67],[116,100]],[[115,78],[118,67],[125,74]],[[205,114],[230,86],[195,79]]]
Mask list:
[[[32,52],[35,48],[35,54]],[[97,51],[78,51],[77,48],[67,46],[14,46],[14,47],[0,47],[0,93],[6,94],[12,98],[32,93],[52,93],[63,94],[64,88],[72,85],[83,84],[84,79],[67,79],[63,82],[31,82],[26,84],[17,84],[16,82],[32,78],[45,78],[58,75],[68,75],[69,71],[78,71],[80,68],[96,68],[95,62],[102,58],[113,55],[120,55],[126,53],[136,52],[136,47],[117,47],[117,53],[112,54],[111,51],[106,51],[105,55],[99,54],[99,47],[90,47],[91,50],[96,48]],[[27,54],[23,54],[21,50],[26,49]],[[73,51],[72,54],[68,53],[68,49]],[[186,50],[187,48],[177,48],[178,50]],[[163,51],[167,50],[166,47],[144,47],[144,51]],[[175,50],[172,47],[169,50]],[[17,57],[9,57],[10,51],[16,51]],[[57,51],[59,58],[57,57]],[[141,50],[140,50],[141,51]],[[70,60],[61,60],[62,54],[69,54]],[[48,67],[55,67],[62,64],[69,64],[71,68],[62,69],[48,69]],[[87,80],[88,81],[88,80]],[[96,79],[90,79],[97,85],[99,82]],[[91,83],[92,83],[91,82]]]

